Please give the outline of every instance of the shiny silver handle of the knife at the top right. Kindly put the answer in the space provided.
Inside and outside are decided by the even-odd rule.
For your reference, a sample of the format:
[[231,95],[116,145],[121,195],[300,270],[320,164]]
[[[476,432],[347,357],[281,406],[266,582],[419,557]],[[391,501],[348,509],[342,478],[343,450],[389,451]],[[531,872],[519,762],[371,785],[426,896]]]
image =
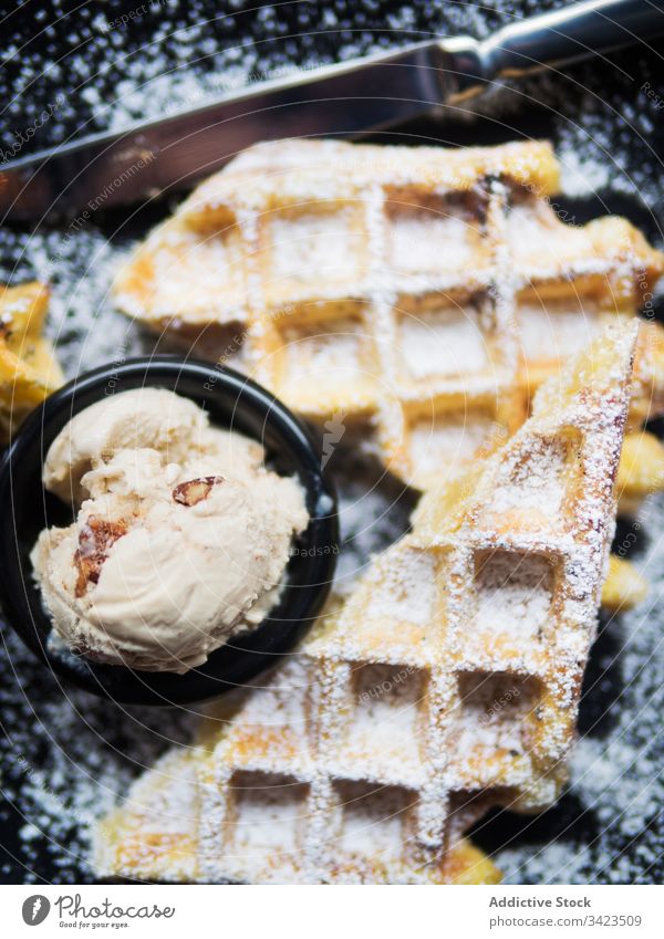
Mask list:
[[661,33],[664,0],[593,0],[505,27],[478,51],[485,79],[510,79]]

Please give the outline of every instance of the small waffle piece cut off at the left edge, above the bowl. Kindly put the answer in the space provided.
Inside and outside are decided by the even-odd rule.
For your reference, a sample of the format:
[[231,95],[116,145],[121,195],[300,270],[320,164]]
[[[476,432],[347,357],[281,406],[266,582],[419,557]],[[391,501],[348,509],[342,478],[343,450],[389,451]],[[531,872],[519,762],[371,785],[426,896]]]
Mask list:
[[0,286],[0,439],[62,385],[53,349],[42,336],[49,290],[32,282]]

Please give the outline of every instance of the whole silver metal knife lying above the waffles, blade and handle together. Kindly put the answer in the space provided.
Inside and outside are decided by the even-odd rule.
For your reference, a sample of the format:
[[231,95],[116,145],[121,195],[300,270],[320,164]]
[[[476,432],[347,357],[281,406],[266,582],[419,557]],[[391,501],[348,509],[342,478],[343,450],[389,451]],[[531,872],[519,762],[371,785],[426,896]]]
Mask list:
[[664,0],[566,6],[499,30],[419,42],[295,73],[203,107],[0,164],[0,213],[39,222],[190,187],[258,140],[355,137],[464,102],[504,79],[560,69],[664,33]]

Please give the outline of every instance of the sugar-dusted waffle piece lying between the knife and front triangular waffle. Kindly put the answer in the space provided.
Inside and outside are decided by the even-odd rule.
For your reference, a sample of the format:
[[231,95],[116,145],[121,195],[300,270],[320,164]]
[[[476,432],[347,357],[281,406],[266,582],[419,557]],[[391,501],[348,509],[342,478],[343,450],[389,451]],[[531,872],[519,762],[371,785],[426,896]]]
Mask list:
[[[426,490],[505,442],[544,378],[649,305],[662,254],[621,218],[566,223],[558,181],[543,143],[261,144],[149,236],[115,298],[203,334],[207,355],[308,418],[360,425]],[[663,336],[641,333],[633,429],[664,405]]]

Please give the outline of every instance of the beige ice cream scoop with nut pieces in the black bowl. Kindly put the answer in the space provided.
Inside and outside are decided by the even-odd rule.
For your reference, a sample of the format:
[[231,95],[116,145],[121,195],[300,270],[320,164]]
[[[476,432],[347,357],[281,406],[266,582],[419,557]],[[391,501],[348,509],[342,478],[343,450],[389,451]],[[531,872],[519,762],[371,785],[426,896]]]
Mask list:
[[35,580],[63,641],[97,661],[185,672],[274,604],[308,523],[293,478],[173,392],[112,395],[51,445],[44,486],[73,504],[44,529]]

